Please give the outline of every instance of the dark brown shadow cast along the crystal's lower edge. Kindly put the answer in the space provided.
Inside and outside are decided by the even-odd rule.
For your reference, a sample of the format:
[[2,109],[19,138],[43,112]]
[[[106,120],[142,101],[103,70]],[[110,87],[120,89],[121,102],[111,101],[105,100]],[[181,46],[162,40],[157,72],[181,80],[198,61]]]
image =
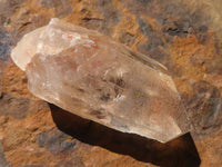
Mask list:
[[54,105],[49,105],[58,128],[82,143],[100,146],[110,151],[129,155],[137,160],[162,167],[198,167],[201,164],[190,134],[161,144],[139,135],[113,130]]

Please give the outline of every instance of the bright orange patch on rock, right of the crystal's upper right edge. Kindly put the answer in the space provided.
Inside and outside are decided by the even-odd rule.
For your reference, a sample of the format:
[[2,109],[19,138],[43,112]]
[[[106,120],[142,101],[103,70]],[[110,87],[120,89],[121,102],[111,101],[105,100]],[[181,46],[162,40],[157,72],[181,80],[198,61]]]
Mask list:
[[214,56],[215,49],[213,37],[208,40],[208,43],[202,45],[194,35],[189,35],[186,38],[174,38],[174,45],[170,47],[170,52],[176,67],[182,70],[182,76],[174,78],[179,90],[186,91],[190,84],[204,80],[204,62]]

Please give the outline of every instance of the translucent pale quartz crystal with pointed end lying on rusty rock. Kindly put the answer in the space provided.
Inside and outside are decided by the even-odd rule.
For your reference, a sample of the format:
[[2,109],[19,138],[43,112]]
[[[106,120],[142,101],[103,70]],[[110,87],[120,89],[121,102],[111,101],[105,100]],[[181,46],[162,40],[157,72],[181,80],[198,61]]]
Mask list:
[[72,114],[161,143],[188,131],[167,68],[97,31],[54,18],[11,57],[34,96]]

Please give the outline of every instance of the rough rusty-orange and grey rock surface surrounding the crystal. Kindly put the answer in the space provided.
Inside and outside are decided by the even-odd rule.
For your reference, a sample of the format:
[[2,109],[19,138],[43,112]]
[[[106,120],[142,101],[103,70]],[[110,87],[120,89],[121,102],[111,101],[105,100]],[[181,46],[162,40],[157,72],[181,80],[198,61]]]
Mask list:
[[[0,166],[222,166],[221,8],[220,0],[0,0]],[[165,65],[193,122],[191,135],[160,144],[30,95],[10,50],[52,17],[95,29]]]

